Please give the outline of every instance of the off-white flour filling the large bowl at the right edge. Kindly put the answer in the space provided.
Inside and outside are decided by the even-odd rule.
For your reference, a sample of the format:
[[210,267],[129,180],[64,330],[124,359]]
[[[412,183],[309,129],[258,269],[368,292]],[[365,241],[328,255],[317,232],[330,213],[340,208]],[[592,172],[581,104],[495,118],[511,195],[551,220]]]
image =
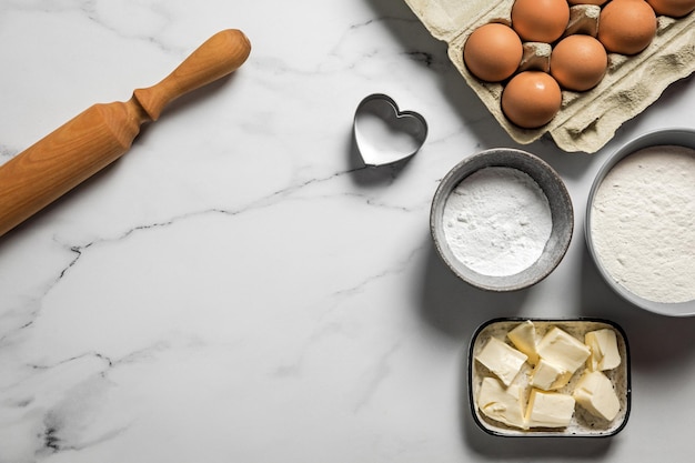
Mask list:
[[592,204],[603,268],[654,302],[695,299],[695,150],[653,147],[620,161]]

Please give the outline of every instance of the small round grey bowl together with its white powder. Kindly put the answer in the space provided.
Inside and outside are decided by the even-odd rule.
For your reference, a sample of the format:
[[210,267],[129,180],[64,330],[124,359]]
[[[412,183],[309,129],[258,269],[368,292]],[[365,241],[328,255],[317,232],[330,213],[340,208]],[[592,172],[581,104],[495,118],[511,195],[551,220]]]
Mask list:
[[491,149],[442,179],[430,230],[443,261],[462,280],[514,291],[547,276],[565,255],[574,228],[570,194],[540,158]]

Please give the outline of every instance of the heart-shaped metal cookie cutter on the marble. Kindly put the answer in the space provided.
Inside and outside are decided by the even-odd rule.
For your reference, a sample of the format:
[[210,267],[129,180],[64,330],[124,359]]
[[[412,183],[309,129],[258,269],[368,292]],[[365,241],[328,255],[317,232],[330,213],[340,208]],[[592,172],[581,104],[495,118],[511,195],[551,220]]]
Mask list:
[[352,125],[365,165],[391,164],[415,154],[427,138],[427,122],[414,111],[401,111],[383,93],[366,97],[355,111]]

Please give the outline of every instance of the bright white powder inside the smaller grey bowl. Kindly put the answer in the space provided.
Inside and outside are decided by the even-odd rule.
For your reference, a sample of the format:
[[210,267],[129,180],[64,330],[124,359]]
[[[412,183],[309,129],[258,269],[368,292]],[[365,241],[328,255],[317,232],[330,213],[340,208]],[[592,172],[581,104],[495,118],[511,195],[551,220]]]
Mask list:
[[471,270],[506,276],[543,252],[553,221],[547,198],[526,173],[485,168],[463,179],[444,204],[444,235]]

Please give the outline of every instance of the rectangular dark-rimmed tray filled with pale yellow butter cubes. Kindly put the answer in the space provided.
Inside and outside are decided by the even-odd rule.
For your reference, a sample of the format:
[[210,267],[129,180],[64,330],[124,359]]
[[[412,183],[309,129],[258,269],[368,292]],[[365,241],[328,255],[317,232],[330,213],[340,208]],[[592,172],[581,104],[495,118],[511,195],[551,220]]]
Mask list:
[[495,319],[469,352],[476,424],[500,436],[605,437],[627,423],[629,352],[598,319]]

